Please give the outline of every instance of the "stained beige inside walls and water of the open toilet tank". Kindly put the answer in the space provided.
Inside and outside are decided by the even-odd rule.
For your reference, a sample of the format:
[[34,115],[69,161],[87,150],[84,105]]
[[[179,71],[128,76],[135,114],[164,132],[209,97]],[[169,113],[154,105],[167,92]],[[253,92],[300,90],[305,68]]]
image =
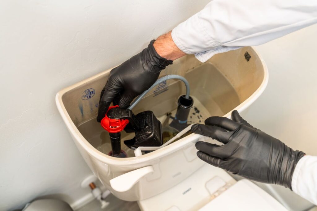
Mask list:
[[[108,136],[95,118],[100,92],[109,73],[110,70],[74,84],[66,88],[67,91],[62,95],[62,102],[74,125],[92,146],[103,153],[107,153],[110,143],[107,149],[102,149],[101,146],[109,142]],[[184,56],[175,60],[173,65],[167,66],[160,77],[169,74],[178,74],[188,80],[194,99],[188,121],[203,123],[209,116],[227,114],[250,97],[262,84],[264,70],[253,48],[243,47],[217,54],[205,63],[201,63],[193,55]],[[177,99],[184,94],[183,82],[167,80],[153,88],[133,108],[133,113],[152,110],[163,123],[168,112],[175,112]],[[121,136],[126,136],[126,139],[133,137],[126,133]]]

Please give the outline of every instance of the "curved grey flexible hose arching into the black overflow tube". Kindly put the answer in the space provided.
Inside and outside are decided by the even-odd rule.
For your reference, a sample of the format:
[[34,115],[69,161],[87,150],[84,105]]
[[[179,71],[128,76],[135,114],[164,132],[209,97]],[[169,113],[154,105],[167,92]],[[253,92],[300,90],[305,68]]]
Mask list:
[[133,101],[133,103],[131,103],[131,105],[128,107],[128,109],[133,109],[134,106],[136,106],[136,104],[138,104],[138,102],[150,91],[152,90],[156,85],[162,83],[163,81],[166,81],[168,79],[179,79],[181,81],[184,82],[185,86],[186,86],[186,95],[185,98],[189,99],[189,93],[190,93],[190,88],[189,88],[189,83],[186,80],[186,78],[184,78],[183,76],[179,76],[179,75],[167,75],[167,76],[163,76],[162,78],[159,78],[148,90],[144,91],[142,94],[140,94],[138,96],[137,99],[135,99],[135,101]]

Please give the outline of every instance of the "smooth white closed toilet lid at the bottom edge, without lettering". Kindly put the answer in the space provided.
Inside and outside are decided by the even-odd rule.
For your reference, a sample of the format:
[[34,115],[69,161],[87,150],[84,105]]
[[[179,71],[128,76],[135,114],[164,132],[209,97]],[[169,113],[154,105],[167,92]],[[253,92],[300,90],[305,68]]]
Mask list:
[[199,211],[209,210],[286,211],[287,209],[256,184],[243,179],[199,209]]

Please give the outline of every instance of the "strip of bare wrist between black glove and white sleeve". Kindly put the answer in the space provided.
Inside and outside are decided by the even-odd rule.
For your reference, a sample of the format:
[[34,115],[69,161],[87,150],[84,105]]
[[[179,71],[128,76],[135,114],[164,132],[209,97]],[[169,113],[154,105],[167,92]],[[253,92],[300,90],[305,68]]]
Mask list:
[[186,53],[175,45],[171,31],[159,36],[153,43],[153,46],[161,57],[168,60],[175,60],[186,55]]

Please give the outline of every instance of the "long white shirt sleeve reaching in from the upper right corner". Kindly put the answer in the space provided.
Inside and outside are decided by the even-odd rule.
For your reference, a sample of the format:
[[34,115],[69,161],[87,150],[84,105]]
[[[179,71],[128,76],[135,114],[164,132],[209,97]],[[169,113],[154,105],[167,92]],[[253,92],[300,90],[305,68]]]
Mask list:
[[274,40],[317,22],[317,0],[213,0],[172,30],[201,62],[216,53]]

